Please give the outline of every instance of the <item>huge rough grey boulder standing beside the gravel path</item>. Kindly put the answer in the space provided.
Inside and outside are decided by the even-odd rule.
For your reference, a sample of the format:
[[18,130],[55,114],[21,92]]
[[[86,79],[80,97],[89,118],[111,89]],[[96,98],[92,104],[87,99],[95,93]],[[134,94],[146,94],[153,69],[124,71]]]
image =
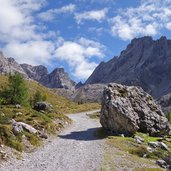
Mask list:
[[104,89],[100,122],[116,134],[160,136],[171,130],[160,106],[143,89],[115,83]]

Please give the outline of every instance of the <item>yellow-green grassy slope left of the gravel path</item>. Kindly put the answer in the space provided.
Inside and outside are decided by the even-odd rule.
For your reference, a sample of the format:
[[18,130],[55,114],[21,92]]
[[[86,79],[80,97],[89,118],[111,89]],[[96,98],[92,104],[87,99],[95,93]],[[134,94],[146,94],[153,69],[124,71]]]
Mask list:
[[[0,88],[5,86],[7,82],[7,77],[0,76]],[[46,101],[54,106],[54,113],[40,113],[33,110],[31,107],[22,107],[21,109],[16,109],[14,106],[0,107],[0,141],[19,151],[22,151],[24,148],[22,143],[23,134],[32,145],[39,145],[41,141],[38,136],[29,134],[28,132],[14,136],[10,123],[12,118],[16,121],[30,124],[38,130],[45,129],[47,133],[56,133],[64,126],[65,122],[70,122],[68,117],[64,115],[65,113],[82,112],[98,109],[100,107],[98,104],[78,105],[70,102],[63,97],[58,96],[53,90],[48,89],[35,81],[28,80],[27,86],[29,88],[30,97],[34,95],[36,90],[39,90],[42,94],[46,95]],[[22,115],[16,115],[18,112],[21,112]],[[55,122],[56,120],[60,120],[60,123]]]

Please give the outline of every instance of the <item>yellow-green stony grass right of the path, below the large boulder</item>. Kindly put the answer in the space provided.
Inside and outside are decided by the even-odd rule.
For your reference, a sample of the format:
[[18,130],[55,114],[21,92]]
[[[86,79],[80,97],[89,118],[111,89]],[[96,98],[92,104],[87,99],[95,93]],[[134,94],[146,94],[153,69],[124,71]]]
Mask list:
[[[99,113],[91,114],[89,117],[99,119]],[[137,144],[132,137],[109,136],[103,128],[97,130],[96,136],[99,139],[106,139],[102,171],[123,170],[123,168],[133,171],[164,170],[155,164],[155,160],[166,156],[171,157],[171,137],[168,136],[162,140],[168,146],[169,151],[156,148],[154,152],[150,153],[147,150],[148,142],[157,142],[160,138],[150,137],[148,134],[139,132],[136,135],[144,139],[142,144]],[[143,157],[144,155],[146,157]]]

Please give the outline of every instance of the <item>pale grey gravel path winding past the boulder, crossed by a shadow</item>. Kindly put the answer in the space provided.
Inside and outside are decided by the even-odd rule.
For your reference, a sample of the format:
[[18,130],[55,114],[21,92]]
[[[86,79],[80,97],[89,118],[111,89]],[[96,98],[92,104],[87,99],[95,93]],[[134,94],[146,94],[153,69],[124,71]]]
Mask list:
[[33,153],[1,166],[1,171],[98,171],[104,141],[94,136],[100,124],[84,112],[68,115],[74,122],[59,137]]

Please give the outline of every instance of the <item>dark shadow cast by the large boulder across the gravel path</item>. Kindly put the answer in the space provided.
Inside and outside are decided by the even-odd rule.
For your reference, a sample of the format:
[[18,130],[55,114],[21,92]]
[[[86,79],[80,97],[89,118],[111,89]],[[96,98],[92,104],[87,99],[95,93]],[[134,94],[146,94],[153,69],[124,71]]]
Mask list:
[[77,141],[93,141],[104,139],[107,136],[108,135],[107,133],[105,133],[105,130],[103,128],[90,128],[85,131],[71,132],[67,135],[58,135],[58,137],[62,139],[71,139]]

